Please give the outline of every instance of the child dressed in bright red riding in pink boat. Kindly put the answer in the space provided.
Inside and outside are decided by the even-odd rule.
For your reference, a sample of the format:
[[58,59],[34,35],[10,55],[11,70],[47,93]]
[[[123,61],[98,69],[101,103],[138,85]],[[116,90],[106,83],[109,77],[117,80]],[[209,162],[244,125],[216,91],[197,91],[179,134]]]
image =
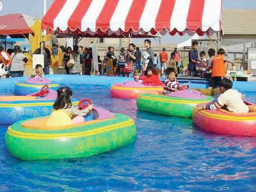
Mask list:
[[153,85],[153,86],[163,86],[162,81],[159,79],[157,70],[153,67],[148,68],[148,73],[146,76],[134,76],[135,79],[145,85]]

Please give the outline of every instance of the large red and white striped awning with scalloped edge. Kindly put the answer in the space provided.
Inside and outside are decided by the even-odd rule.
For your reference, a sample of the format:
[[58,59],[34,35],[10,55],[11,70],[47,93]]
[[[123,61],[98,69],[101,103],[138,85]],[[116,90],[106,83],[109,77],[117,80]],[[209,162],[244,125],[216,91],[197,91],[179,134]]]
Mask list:
[[98,34],[221,31],[222,0],[55,0],[42,30]]

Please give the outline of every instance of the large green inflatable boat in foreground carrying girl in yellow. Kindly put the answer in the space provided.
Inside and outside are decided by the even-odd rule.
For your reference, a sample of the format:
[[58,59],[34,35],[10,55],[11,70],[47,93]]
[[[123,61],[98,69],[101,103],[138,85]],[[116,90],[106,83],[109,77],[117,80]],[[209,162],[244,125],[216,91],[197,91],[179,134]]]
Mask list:
[[129,116],[94,108],[93,120],[46,127],[48,117],[26,119],[9,126],[6,147],[21,160],[89,157],[132,143],[136,137]]

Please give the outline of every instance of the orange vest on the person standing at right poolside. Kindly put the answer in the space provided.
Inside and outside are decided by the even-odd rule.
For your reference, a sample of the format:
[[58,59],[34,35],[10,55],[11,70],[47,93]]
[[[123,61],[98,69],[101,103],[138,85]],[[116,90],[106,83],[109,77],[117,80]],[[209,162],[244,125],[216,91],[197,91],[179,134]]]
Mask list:
[[212,59],[212,77],[226,76],[226,68],[224,62],[225,55],[217,55]]

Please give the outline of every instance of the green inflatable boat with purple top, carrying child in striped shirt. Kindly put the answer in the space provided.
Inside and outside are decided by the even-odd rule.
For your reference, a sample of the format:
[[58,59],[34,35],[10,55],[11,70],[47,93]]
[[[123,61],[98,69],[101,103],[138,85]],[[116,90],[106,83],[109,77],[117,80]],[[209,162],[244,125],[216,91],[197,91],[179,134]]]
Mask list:
[[139,111],[190,117],[196,105],[211,102],[212,99],[197,90],[180,90],[165,96],[141,94],[137,99],[137,108]]

